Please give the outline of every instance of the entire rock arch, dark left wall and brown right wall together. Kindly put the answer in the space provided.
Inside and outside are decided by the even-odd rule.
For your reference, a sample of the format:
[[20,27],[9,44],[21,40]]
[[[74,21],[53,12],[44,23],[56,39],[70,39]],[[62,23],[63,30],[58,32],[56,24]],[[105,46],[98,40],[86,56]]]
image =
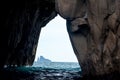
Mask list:
[[83,76],[120,73],[120,0],[17,0],[1,4],[7,7],[0,9],[0,67],[32,65],[41,27],[58,13],[67,20]]

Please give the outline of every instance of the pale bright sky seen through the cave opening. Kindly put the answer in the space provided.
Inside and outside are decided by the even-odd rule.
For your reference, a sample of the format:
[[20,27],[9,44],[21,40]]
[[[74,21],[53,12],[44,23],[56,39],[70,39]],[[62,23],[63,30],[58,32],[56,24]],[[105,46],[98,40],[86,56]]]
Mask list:
[[44,56],[54,62],[78,62],[66,29],[66,20],[59,15],[42,28],[35,61]]

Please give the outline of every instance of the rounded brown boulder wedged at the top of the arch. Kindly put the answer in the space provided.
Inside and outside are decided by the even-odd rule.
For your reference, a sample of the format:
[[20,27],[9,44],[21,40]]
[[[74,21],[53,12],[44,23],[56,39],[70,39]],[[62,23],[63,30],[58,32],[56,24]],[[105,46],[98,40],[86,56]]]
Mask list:
[[56,11],[65,19],[84,17],[85,0],[55,0]]

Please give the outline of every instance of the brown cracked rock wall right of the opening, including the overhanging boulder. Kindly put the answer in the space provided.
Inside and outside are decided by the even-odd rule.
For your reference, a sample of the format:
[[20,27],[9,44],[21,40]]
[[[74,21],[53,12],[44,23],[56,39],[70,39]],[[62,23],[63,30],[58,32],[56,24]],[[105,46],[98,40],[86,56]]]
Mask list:
[[83,75],[120,72],[120,0],[56,0]]

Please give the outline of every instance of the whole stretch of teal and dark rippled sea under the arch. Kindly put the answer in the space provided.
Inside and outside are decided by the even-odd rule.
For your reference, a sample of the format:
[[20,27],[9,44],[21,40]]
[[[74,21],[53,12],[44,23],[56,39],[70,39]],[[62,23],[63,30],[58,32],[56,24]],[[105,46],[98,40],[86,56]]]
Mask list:
[[5,68],[3,80],[80,80],[81,69],[76,62],[34,63],[32,66]]

